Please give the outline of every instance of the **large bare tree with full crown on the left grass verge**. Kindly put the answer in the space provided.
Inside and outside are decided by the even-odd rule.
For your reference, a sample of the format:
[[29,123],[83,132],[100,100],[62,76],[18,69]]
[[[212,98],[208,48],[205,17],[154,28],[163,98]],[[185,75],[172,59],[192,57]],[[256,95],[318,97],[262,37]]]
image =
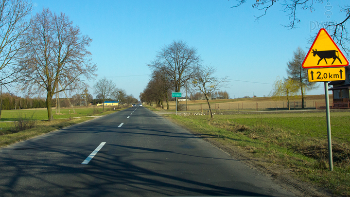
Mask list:
[[91,53],[87,50],[92,40],[83,36],[79,27],[74,26],[65,14],[56,15],[49,9],[34,16],[26,40],[31,42],[23,54],[23,72],[28,76],[23,79],[22,90],[29,93],[46,91],[46,107],[51,121],[53,95],[80,88],[85,85],[82,77],[90,79],[95,76],[96,65],[91,63]]

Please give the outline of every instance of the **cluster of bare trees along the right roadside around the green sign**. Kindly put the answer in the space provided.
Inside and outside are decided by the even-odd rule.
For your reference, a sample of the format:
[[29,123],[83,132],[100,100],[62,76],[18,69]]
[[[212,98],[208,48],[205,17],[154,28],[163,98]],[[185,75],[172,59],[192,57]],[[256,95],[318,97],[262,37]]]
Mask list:
[[172,92],[180,92],[183,89],[189,90],[189,93],[201,92],[207,100],[210,116],[213,118],[209,100],[212,95],[215,98],[220,97],[217,90],[227,86],[227,77],[216,77],[214,67],[202,65],[196,48],[188,46],[183,40],[173,41],[162,47],[147,66],[153,72],[146,88],[140,93],[142,102],[151,106],[156,104],[162,108],[165,102],[169,110]]

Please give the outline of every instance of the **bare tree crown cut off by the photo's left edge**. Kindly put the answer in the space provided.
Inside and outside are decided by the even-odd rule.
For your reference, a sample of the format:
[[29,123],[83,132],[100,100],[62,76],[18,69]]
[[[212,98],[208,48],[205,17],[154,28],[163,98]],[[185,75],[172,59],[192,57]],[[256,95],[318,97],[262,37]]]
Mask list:
[[28,33],[31,11],[27,0],[0,1],[0,85],[18,78],[18,58],[25,47],[22,38]]

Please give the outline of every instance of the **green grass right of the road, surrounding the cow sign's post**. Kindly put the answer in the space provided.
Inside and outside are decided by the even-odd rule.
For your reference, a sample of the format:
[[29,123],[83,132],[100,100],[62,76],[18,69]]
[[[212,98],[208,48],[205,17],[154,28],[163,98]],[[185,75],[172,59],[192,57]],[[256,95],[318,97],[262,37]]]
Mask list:
[[324,113],[207,116],[168,115],[194,133],[239,147],[263,165],[288,169],[288,176],[312,182],[335,195],[350,196],[350,112],[331,113],[334,171],[328,170]]

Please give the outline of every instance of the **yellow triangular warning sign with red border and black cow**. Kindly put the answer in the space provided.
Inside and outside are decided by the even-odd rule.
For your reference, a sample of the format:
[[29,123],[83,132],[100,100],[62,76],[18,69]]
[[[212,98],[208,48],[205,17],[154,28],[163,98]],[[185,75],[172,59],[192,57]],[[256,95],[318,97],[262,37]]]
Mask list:
[[349,61],[347,58],[323,28],[318,32],[313,45],[302,63],[302,67],[305,69],[345,67],[348,65]]

